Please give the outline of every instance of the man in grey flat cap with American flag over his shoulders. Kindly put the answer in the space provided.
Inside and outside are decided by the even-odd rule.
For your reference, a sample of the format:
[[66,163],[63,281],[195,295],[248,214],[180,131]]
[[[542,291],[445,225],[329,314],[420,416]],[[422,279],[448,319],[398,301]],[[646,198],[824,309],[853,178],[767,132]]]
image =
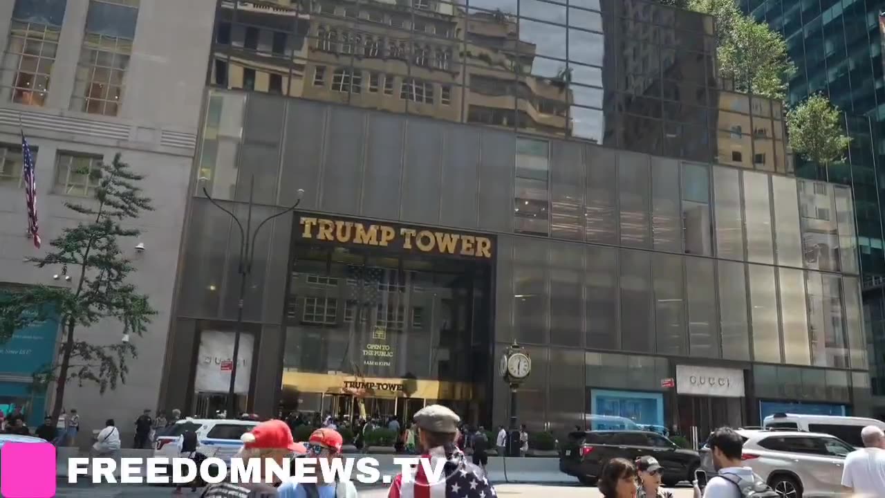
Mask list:
[[443,476],[431,482],[424,465],[416,465],[409,471],[407,479],[398,474],[390,485],[388,498],[403,496],[445,496],[445,498],[492,498],[495,488],[489,484],[482,470],[468,463],[464,453],[458,449],[458,423],[461,417],[442,405],[429,405],[420,409],[413,417],[418,427],[418,445],[422,459],[429,461],[428,468],[435,469],[441,460]]

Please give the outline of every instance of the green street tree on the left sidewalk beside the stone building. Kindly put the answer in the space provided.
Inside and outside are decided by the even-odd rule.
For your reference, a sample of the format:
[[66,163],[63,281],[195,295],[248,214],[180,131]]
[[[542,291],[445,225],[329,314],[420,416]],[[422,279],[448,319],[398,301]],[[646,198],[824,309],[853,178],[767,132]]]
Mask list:
[[[14,331],[35,320],[45,320],[50,311],[58,314],[62,340],[58,362],[35,372],[38,385],[56,382],[52,419],[58,420],[65,399],[65,386],[76,380],[80,385],[94,383],[104,393],[117,383],[126,382],[127,359],[136,356],[135,345],[122,342],[124,334],[142,336],[156,312],[147,296],[127,283],[133,267],[120,250],[121,237],[137,237],[139,230],[125,228],[143,210],[151,210],[150,199],[142,195],[137,175],[120,160],[97,170],[78,171],[92,175],[97,182],[94,200],[83,204],[65,203],[71,217],[83,220],[63,230],[50,242],[50,251],[42,258],[32,258],[36,268],[72,268],[73,283],[67,286],[35,285],[10,293],[0,307],[0,344]],[[108,340],[91,343],[82,340],[79,331],[98,323],[106,328],[119,323],[120,330],[109,333]]]

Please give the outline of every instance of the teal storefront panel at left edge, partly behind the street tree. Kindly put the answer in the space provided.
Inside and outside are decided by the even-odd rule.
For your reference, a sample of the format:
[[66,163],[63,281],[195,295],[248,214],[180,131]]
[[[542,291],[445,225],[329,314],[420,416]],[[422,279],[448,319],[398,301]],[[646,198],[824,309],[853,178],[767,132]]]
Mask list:
[[30,378],[52,364],[57,338],[58,315],[50,312],[46,319],[29,323],[0,344],[0,373],[23,379],[22,382],[0,382],[0,410],[8,413],[22,407],[27,424],[32,427],[42,422],[46,394],[34,392]]

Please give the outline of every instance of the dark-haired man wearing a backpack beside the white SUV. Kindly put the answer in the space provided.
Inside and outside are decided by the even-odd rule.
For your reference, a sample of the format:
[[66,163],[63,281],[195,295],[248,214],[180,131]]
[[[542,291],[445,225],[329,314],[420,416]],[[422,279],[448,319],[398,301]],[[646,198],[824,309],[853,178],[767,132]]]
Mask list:
[[[743,466],[743,438],[729,427],[721,427],[712,433],[707,446],[713,459],[713,467],[718,472],[708,479],[703,498],[778,498],[780,495],[766,485],[750,467]],[[702,496],[695,485],[695,498]]]

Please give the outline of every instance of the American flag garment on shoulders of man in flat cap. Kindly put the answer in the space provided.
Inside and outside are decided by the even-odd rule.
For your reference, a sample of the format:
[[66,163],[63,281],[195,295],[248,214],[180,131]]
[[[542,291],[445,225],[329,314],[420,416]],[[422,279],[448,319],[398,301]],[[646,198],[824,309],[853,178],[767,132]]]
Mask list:
[[465,462],[464,453],[458,448],[452,448],[450,453],[443,447],[435,447],[429,453],[421,455],[421,458],[429,458],[430,465],[435,465],[435,460],[445,458],[443,479],[433,484],[428,484],[427,475],[422,465],[412,470],[410,479],[403,479],[402,474],[396,476],[390,485],[388,498],[495,498],[495,487],[489,484],[489,479],[481,475],[479,468],[468,465]]

